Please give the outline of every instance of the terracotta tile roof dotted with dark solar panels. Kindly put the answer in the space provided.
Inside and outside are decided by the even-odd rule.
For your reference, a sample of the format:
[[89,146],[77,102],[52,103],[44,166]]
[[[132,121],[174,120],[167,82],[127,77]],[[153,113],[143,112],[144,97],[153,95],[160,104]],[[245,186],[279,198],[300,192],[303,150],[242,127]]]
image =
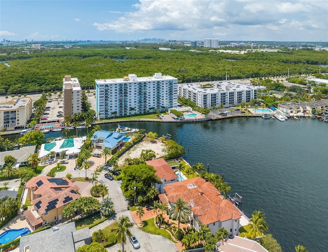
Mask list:
[[[32,191],[33,195],[41,196],[32,200],[33,205],[38,203],[35,208],[39,215],[80,198],[80,195],[77,193],[79,187],[74,185],[69,179],[58,178],[56,181],[57,183],[52,181],[51,177],[38,176],[29,180],[25,185],[26,188],[30,188],[31,190],[32,187],[36,187],[36,189]],[[55,202],[52,208],[50,207],[52,204],[49,204],[51,202]]]

